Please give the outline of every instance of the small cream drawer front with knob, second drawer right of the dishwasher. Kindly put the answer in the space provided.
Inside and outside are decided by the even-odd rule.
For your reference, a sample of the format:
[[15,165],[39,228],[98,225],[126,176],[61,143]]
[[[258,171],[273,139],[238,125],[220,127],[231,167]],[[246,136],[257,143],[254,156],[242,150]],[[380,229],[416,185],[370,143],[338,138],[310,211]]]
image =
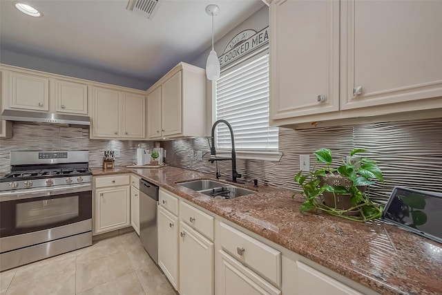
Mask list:
[[196,209],[186,202],[181,202],[180,217],[188,225],[200,231],[201,234],[213,240],[213,216],[204,213],[200,209]]

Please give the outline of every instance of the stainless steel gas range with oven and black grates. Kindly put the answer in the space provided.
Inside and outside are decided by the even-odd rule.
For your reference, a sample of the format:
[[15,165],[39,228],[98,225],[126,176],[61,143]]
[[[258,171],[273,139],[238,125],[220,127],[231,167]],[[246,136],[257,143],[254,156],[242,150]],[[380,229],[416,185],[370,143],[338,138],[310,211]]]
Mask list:
[[92,245],[88,151],[11,151],[0,178],[0,271]]

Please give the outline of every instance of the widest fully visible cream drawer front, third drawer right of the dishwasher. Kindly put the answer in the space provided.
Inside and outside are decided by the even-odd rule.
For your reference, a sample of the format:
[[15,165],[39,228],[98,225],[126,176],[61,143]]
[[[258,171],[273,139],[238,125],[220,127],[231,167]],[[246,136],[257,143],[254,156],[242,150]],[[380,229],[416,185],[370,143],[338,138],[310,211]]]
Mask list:
[[[220,245],[231,256],[277,286],[281,285],[281,252],[220,222]],[[218,234],[217,234],[218,236]]]

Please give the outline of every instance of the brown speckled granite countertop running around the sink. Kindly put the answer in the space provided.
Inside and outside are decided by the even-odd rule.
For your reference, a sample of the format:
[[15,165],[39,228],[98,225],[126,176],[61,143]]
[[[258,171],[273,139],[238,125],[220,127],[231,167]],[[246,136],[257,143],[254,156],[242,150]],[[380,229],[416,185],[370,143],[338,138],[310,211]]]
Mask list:
[[442,245],[432,240],[380,221],[300,213],[302,197],[285,189],[260,186],[253,195],[215,200],[176,184],[213,175],[173,166],[93,175],[129,171],[381,294],[442,294]]

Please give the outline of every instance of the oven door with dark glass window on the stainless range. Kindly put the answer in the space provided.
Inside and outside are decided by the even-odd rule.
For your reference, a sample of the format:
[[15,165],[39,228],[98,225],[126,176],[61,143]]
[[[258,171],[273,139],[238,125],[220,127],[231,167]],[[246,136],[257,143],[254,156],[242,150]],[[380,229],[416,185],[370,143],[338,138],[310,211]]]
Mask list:
[[90,218],[90,184],[18,191],[0,196],[0,238],[62,227]]

